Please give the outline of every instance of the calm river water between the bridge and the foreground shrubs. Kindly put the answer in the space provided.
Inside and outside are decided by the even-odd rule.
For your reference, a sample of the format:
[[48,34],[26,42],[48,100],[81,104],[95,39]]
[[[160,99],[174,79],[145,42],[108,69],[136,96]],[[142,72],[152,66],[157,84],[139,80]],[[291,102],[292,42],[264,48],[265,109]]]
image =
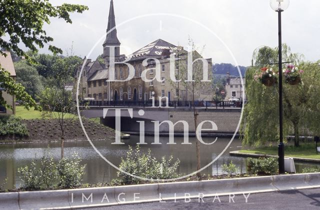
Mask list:
[[[181,144],[183,137],[174,137],[176,144],[167,144],[168,137],[160,137],[161,144],[151,144],[153,136],[145,136],[147,144],[141,144],[142,151],[151,150],[152,156],[161,158],[162,156],[173,155],[173,158],[180,159],[178,172],[188,174],[196,170],[196,151],[195,137],[189,137],[192,144]],[[212,142],[215,137],[203,137],[204,142]],[[122,140],[125,144],[111,144],[110,140],[92,141],[99,152],[114,165],[118,166],[121,157],[125,157],[128,145],[135,146],[139,141],[139,136],[131,136],[129,139]],[[211,162],[229,143],[230,138],[217,138],[211,145],[200,144],[201,166]],[[60,157],[60,143],[20,143],[20,144],[0,144],[0,185],[7,178],[6,188],[19,187],[20,179],[17,168],[30,164],[32,159],[39,160],[47,147],[55,159]],[[241,149],[241,141],[234,139],[226,148],[225,152],[211,165],[202,170],[205,174],[222,174],[221,165],[232,161],[239,167],[240,173],[246,172],[246,161],[243,157],[229,156],[228,152]],[[88,141],[68,141],[65,142],[64,154],[70,157],[77,152],[83,163],[86,164],[86,171],[83,182],[98,183],[110,181],[116,177],[117,170],[105,162],[93,149]],[[311,164],[295,163],[297,171],[302,167],[311,166]]]

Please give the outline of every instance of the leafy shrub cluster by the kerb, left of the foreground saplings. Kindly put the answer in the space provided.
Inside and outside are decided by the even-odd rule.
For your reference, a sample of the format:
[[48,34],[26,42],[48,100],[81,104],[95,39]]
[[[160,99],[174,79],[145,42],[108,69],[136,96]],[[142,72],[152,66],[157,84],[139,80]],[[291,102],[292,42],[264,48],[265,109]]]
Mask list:
[[43,153],[39,166],[35,160],[18,168],[25,189],[73,188],[81,185],[85,165],[74,153],[71,158],[55,161],[48,149]]

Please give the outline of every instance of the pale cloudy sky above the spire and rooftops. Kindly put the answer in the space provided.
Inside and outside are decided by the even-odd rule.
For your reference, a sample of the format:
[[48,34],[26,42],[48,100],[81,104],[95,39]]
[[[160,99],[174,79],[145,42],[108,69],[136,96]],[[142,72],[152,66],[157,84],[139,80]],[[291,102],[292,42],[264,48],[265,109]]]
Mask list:
[[[95,59],[102,53],[110,0],[50,0],[85,4],[89,10],[71,15],[72,24],[52,18],[44,28],[64,54]],[[248,66],[259,46],[278,43],[277,13],[269,0],[113,0],[117,36],[128,54],[161,38],[174,45],[189,45],[213,63]],[[282,12],[282,42],[306,60],[320,59],[319,0],[291,0]],[[73,41],[73,44],[72,44]],[[94,47],[95,45],[95,47]],[[90,53],[91,51],[91,53]],[[40,49],[49,53],[46,47]]]

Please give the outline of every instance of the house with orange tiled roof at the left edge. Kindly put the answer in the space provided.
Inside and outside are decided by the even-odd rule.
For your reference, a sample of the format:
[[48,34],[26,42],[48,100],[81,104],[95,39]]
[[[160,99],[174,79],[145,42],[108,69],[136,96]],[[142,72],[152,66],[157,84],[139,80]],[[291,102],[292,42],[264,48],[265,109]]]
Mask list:
[[[15,70],[11,58],[11,54],[9,51],[2,51],[6,54],[6,56],[0,54],[0,66],[1,68],[4,68],[4,70],[8,71],[10,73],[10,76],[15,79]],[[7,104],[9,104],[12,107],[12,110],[5,108],[3,104],[0,104],[0,114],[15,114],[15,97],[14,95],[8,94],[4,88],[1,87],[0,82],[0,92],[4,100]]]

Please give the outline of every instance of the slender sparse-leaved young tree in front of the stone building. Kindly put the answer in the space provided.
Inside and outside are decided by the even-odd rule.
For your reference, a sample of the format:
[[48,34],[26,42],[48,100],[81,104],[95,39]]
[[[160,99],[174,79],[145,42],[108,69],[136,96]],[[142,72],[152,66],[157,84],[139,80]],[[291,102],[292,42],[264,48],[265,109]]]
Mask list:
[[[177,80],[181,80],[179,82],[179,84],[182,86],[182,88],[180,90],[185,91],[185,96],[187,100],[191,100],[192,103],[192,110],[193,110],[193,120],[194,120],[194,130],[196,129],[196,127],[198,126],[198,113],[195,109],[195,103],[196,102],[200,102],[203,101],[205,99],[207,100],[211,100],[212,99],[212,95],[211,93],[211,85],[212,82],[211,81],[201,81],[203,79],[203,68],[205,67],[203,62],[201,60],[197,60],[198,58],[202,58],[201,56],[201,52],[203,51],[204,47],[201,49],[201,52],[198,53],[197,52],[197,47],[195,46],[194,42],[192,41],[191,38],[189,38],[189,46],[191,47],[191,52],[192,53],[192,60],[190,60],[190,62],[194,62],[192,64],[192,81],[186,81],[187,77],[188,77],[188,64],[185,62],[188,57],[186,54],[186,51],[184,50],[177,50],[176,51],[176,55],[178,57],[178,59],[176,60],[176,67],[177,67],[177,71],[175,71],[175,77]],[[178,47],[178,48],[182,48],[182,47]],[[208,66],[206,66],[208,67]],[[211,69],[211,68],[210,68]],[[208,70],[208,78],[211,79],[212,78],[212,72],[211,70]],[[177,84],[174,82],[172,82],[174,88],[177,87]],[[180,91],[178,90],[178,91]],[[207,95],[210,95],[208,98]],[[181,99],[182,97],[185,97],[183,95],[178,95],[178,97],[180,97],[179,99]],[[185,99],[184,99],[185,100]],[[195,148],[196,148],[196,169],[200,170],[201,168],[201,158],[200,158],[200,145],[198,142],[198,139],[195,141]],[[196,175],[198,177],[201,177],[201,173],[197,172]]]

